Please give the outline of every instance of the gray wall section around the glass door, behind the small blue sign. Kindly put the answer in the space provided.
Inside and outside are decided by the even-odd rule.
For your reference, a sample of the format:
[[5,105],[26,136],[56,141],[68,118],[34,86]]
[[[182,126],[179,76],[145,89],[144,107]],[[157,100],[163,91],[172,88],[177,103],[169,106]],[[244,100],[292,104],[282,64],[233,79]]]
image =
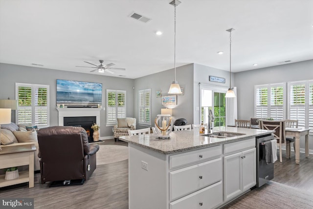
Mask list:
[[[225,83],[217,83],[209,81],[209,76],[217,76],[221,78],[225,78]],[[200,108],[200,87],[199,83],[201,84],[208,84],[212,86],[220,86],[220,87],[227,87],[229,88],[229,71],[219,70],[216,68],[211,68],[204,65],[194,64],[194,121],[195,124],[200,124],[200,111],[196,111],[196,108]],[[231,84],[232,87],[234,86],[234,73],[231,73]]]

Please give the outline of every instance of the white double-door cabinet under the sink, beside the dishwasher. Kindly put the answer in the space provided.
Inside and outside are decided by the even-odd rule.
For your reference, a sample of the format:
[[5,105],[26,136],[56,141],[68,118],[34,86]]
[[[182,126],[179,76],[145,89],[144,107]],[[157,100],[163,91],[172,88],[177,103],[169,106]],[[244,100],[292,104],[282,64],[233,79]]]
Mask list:
[[224,156],[224,202],[256,185],[256,148]]

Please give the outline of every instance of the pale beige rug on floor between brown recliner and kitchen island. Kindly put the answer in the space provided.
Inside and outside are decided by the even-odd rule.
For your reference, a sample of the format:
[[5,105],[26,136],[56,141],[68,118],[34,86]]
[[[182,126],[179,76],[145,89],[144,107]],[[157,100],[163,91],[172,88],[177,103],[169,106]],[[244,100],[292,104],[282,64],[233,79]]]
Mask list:
[[128,147],[121,145],[100,145],[97,165],[116,163],[128,159]]

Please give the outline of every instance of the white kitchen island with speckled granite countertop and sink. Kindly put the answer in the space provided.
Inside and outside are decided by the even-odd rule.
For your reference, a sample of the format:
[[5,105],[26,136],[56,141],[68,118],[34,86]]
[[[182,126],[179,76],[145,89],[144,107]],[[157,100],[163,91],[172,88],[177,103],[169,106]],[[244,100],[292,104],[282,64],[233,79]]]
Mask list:
[[256,140],[272,131],[225,127],[242,135],[172,132],[120,137],[129,143],[130,209],[211,209],[256,185]]

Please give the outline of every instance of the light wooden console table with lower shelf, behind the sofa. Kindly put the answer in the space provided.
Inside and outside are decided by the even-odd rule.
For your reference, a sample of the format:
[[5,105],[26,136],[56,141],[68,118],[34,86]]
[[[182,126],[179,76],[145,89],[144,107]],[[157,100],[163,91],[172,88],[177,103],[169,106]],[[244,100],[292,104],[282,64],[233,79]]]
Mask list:
[[29,182],[29,188],[34,187],[34,156],[36,147],[33,142],[0,145],[0,169],[29,165],[28,171],[19,171],[19,178],[5,180],[0,175],[0,187]]

